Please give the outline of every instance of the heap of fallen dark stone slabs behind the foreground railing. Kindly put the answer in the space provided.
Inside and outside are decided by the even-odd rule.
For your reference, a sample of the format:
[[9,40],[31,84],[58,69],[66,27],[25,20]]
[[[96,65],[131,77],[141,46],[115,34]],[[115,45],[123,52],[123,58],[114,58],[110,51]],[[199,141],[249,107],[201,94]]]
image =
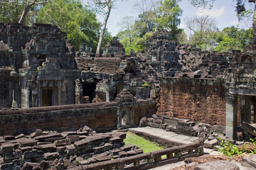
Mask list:
[[[134,145],[124,145],[125,132],[43,132],[0,137],[0,168],[70,169],[77,166],[142,154]],[[21,168],[22,167],[22,168]]]

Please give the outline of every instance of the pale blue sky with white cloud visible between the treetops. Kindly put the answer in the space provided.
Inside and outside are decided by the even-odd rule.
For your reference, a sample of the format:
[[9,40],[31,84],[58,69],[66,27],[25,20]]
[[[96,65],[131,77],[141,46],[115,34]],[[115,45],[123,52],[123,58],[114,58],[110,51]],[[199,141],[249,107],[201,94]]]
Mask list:
[[[137,19],[138,12],[134,9],[134,4],[139,0],[117,0],[115,2],[116,7],[112,8],[110,13],[110,18],[107,21],[107,30],[112,33],[112,36],[117,35],[119,33],[120,28],[117,25],[122,18],[125,16],[133,16],[134,19]],[[247,3],[247,8],[252,8],[250,3]],[[179,6],[183,10],[183,14],[181,16],[181,25],[179,28],[184,28],[186,33],[185,20],[191,16],[205,16],[209,15],[212,18],[215,18],[217,21],[217,28],[223,30],[223,28],[228,26],[236,26],[238,25],[238,18],[235,13],[235,3],[233,0],[215,0],[212,9],[203,9],[203,8],[196,8],[191,6],[188,0],[182,0],[179,3]],[[99,16],[99,21],[102,23],[104,16]],[[247,25],[246,25],[246,23]],[[252,21],[245,21],[244,23],[240,23],[240,28],[248,28],[252,25]]]

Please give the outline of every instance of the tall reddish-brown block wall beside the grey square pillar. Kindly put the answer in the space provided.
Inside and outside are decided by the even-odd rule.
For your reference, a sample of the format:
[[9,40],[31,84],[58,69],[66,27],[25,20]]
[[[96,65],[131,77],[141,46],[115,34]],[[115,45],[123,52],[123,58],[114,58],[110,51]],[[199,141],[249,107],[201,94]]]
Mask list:
[[225,86],[220,79],[165,78],[157,114],[225,125]]

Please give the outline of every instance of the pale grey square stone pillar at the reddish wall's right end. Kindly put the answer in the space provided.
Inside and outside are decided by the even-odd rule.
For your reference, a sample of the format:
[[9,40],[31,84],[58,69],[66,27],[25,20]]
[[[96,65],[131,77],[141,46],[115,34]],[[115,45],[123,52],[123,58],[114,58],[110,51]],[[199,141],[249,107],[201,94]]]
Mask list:
[[235,140],[235,128],[238,125],[238,99],[226,94],[226,137]]

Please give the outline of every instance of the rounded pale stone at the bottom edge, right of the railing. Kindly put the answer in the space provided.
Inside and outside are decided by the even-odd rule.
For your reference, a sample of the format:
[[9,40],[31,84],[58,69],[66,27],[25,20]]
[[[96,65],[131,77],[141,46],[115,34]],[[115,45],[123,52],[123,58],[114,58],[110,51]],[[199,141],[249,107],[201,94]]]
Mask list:
[[240,170],[239,166],[236,164],[233,164],[232,162],[229,161],[215,161],[215,162],[207,162],[200,164],[195,167],[195,170],[224,170],[224,169],[229,169],[229,170]]

